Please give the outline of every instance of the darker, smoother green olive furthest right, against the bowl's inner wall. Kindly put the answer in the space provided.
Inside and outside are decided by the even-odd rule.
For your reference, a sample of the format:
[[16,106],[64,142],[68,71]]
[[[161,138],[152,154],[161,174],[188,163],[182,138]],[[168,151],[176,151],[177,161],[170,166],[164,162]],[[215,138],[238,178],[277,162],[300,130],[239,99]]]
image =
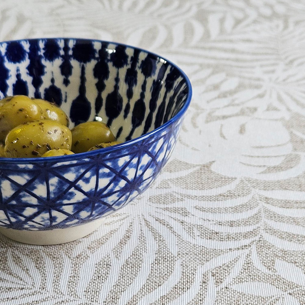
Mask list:
[[86,122],[75,126],[72,130],[72,151],[86,152],[99,143],[113,142],[115,136],[109,127],[102,122]]

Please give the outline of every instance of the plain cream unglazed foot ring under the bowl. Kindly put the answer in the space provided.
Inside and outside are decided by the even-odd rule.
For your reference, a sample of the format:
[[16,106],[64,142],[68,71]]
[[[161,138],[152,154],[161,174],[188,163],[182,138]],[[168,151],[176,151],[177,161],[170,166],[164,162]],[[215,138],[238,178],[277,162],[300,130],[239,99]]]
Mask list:
[[15,230],[9,228],[1,228],[0,233],[17,242],[23,242],[31,245],[57,245],[65,242],[72,242],[76,239],[84,237],[95,231],[101,224],[103,219],[81,224],[79,226],[54,229],[45,231],[29,231]]

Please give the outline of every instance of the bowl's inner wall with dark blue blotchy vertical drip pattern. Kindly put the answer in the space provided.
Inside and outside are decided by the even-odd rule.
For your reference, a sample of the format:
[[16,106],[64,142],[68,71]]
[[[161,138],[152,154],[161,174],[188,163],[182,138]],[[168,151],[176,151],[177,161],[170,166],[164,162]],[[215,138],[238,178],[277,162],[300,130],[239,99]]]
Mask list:
[[107,123],[120,141],[174,117],[188,96],[186,77],[167,60],[125,45],[72,38],[0,43],[0,97],[56,102],[72,128]]

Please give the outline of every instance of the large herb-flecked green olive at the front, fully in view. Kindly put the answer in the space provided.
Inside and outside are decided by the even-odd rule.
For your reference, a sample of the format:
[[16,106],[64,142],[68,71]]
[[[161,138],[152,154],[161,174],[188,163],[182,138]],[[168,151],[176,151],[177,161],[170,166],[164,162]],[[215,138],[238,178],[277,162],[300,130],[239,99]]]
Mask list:
[[71,149],[71,131],[52,120],[26,122],[13,128],[5,139],[5,153],[11,158],[41,157],[51,149]]

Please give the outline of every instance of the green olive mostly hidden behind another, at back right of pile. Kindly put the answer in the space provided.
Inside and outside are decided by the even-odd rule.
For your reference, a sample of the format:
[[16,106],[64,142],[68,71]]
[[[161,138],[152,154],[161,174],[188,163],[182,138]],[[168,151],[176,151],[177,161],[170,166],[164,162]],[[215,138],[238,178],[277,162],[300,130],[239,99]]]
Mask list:
[[66,113],[55,103],[51,103],[43,99],[32,99],[32,101],[42,109],[42,119],[58,121],[65,126],[69,126],[70,122]]

